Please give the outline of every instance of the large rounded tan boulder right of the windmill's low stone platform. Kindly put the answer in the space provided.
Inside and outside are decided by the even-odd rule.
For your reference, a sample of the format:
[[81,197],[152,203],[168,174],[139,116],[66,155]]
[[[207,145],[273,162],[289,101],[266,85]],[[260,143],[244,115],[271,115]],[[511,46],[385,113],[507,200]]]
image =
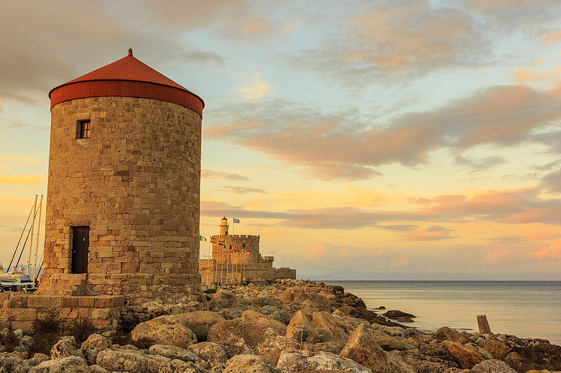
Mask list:
[[172,315],[159,316],[136,325],[131,332],[131,339],[133,341],[144,339],[154,344],[172,344],[182,348],[197,343],[195,333]]

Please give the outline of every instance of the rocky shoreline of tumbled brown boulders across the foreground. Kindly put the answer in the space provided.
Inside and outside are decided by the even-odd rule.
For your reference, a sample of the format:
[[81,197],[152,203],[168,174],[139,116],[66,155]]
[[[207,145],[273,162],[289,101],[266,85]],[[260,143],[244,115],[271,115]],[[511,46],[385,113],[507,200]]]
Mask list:
[[[420,332],[321,282],[254,281],[197,301],[125,307],[121,319],[120,331],[105,335],[56,320],[38,323],[33,335],[4,329],[0,373],[561,371],[561,347],[545,339]],[[314,353],[293,352],[296,328],[307,328]]]

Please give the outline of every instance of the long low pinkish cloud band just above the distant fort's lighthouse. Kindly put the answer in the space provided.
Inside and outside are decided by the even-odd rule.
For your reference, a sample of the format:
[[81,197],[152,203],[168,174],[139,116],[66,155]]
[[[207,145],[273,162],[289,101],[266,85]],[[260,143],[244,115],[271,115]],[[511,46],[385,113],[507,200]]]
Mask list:
[[[225,215],[244,218],[280,220],[279,225],[305,229],[353,230],[364,227],[397,226],[408,231],[410,222],[471,222],[474,220],[507,224],[542,223],[561,225],[561,198],[541,199],[539,189],[490,190],[466,195],[439,195],[434,204],[414,211],[377,211],[353,206],[338,206],[287,211],[249,210],[219,201],[201,201],[201,216]],[[394,224],[393,222],[404,222]],[[413,232],[410,239],[421,237],[449,237],[449,230],[433,226]],[[405,236],[407,239],[407,236]]]

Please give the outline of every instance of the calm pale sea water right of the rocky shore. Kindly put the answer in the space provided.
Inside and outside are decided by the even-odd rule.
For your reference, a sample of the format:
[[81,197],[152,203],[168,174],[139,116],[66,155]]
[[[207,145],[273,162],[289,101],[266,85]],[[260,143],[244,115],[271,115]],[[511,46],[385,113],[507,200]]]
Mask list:
[[444,326],[478,331],[476,316],[487,315],[493,333],[561,345],[561,281],[324,282],[343,286],[369,309],[413,314],[415,323],[408,325],[425,332]]

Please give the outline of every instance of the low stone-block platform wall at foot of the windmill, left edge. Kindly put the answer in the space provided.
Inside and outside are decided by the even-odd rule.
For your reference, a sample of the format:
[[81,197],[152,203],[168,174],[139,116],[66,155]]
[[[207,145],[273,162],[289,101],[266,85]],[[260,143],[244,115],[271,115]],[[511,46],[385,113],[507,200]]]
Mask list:
[[56,296],[0,293],[0,327],[33,332],[33,321],[49,313],[63,322],[88,319],[95,329],[111,334],[118,327],[123,296]]

